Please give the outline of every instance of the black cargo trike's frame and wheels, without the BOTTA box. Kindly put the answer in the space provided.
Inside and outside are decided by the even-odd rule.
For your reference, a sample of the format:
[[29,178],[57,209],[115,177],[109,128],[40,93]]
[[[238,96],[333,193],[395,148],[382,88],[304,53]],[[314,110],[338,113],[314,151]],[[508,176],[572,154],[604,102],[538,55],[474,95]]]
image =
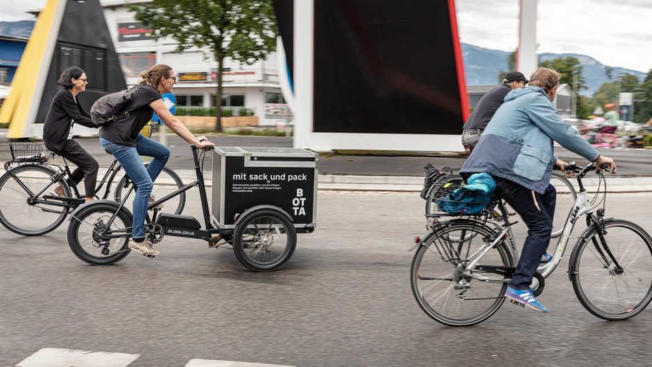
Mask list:
[[[205,240],[213,248],[231,244],[236,258],[255,271],[273,271],[285,265],[292,257],[297,243],[293,218],[277,206],[257,205],[237,216],[234,229],[214,226],[200,165],[203,158],[198,154],[198,147],[193,145],[191,149],[197,179],[148,205],[148,210],[153,211],[152,217],[149,212],[146,217],[145,235],[148,239],[157,244],[165,235],[172,235]],[[160,209],[156,206],[195,186],[199,188],[204,229],[201,229],[198,220],[188,215],[159,215]],[[133,215],[125,203],[132,191],[133,188],[128,189],[121,203],[95,200],[71,214],[68,244],[77,258],[91,265],[112,265],[128,255],[131,251],[128,242]],[[314,231],[314,225],[300,226],[300,229],[309,233]]]

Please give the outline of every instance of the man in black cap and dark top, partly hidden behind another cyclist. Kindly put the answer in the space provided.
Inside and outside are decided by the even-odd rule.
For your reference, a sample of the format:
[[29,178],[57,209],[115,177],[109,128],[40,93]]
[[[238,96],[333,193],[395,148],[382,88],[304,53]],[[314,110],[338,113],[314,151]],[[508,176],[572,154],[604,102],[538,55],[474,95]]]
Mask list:
[[480,98],[463,127],[462,144],[467,153],[472,152],[489,120],[494,116],[498,107],[503,104],[507,93],[525,87],[528,82],[529,80],[523,73],[512,71],[505,76],[500,87],[488,91]]

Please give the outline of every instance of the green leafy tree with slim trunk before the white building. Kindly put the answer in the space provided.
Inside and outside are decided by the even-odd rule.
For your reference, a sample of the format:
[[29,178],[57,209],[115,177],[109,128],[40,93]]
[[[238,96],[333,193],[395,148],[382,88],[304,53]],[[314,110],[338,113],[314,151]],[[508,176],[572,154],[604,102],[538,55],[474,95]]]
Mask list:
[[225,57],[253,64],[275,51],[278,34],[272,0],[154,0],[128,6],[156,37],[178,42],[175,52],[208,49],[218,64],[215,131],[221,132],[222,72]]

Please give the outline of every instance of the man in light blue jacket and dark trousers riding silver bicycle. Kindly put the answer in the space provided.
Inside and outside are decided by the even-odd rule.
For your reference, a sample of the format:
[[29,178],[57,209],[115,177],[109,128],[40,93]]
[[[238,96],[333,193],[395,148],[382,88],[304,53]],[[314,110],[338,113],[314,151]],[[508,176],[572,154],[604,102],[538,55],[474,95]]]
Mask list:
[[[613,159],[602,156],[571,125],[564,123],[552,105],[560,74],[539,68],[528,87],[515,89],[491,118],[472,154],[464,163],[463,177],[486,172],[497,183],[496,192],[519,213],[528,227],[521,258],[505,297],[539,312],[547,312],[530,289],[550,241],[556,190],[550,185],[553,165],[567,164],[553,153],[553,141],[596,165]],[[544,256],[545,255],[545,256]]]

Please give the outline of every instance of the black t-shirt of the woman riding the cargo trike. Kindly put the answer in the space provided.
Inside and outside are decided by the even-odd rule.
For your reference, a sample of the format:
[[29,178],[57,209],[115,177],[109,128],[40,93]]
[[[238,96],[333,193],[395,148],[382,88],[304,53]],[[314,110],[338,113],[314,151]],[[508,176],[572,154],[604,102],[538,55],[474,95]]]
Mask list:
[[121,113],[129,112],[130,116],[107,123],[101,127],[100,136],[117,145],[135,147],[140,130],[152,119],[154,113],[149,104],[160,99],[161,93],[154,87],[139,86],[131,101],[120,110]]

